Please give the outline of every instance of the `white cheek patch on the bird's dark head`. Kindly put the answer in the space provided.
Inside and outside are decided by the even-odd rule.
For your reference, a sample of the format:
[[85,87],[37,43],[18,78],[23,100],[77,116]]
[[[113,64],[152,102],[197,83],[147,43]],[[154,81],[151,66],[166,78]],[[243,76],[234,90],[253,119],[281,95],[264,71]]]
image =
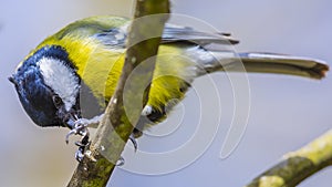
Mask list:
[[53,58],[42,58],[37,64],[45,84],[62,98],[65,110],[71,110],[76,103],[80,90],[79,77],[73,70],[63,61]]

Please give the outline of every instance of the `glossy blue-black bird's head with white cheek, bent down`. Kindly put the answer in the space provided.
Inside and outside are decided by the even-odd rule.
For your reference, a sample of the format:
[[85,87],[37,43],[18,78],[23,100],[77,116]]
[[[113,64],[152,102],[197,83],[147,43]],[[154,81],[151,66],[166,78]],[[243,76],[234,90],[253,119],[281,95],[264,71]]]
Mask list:
[[43,46],[9,77],[21,104],[39,126],[69,126],[80,115],[80,77],[65,50]]

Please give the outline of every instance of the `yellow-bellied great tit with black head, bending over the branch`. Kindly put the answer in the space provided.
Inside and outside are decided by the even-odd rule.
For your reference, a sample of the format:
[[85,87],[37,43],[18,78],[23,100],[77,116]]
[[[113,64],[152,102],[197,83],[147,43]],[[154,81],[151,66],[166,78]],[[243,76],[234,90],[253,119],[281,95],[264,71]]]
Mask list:
[[[113,15],[75,21],[43,40],[19,63],[9,81],[30,118],[41,127],[68,127],[83,136],[84,122],[98,123],[122,73],[131,19]],[[320,80],[329,65],[317,59],[230,50],[239,41],[229,33],[207,33],[166,23],[148,85],[148,96],[133,137],[167,117],[195,79],[222,71],[274,73]],[[177,102],[174,102],[177,101]],[[85,106],[83,107],[83,103]],[[85,121],[84,121],[85,120]],[[66,137],[68,138],[68,137]]]

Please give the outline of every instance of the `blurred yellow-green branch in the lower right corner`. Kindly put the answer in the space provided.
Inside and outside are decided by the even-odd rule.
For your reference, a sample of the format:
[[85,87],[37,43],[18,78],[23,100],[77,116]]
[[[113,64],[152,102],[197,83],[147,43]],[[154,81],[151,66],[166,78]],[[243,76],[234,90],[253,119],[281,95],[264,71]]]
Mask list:
[[297,186],[317,172],[332,165],[332,129],[255,178],[246,187]]

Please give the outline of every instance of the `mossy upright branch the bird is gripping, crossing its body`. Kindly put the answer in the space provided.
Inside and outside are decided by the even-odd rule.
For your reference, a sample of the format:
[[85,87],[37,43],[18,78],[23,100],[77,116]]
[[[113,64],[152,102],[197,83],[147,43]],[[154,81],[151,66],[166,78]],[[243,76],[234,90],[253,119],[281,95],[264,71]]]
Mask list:
[[[147,18],[148,22],[137,21],[138,18],[158,13],[167,14],[157,17],[157,19]],[[132,75],[132,71],[137,65],[142,65],[141,62],[148,60],[148,63],[145,63],[147,65],[143,66],[144,72],[141,73],[143,74],[144,80],[151,82],[155,66],[155,58],[153,56],[156,56],[157,54],[160,35],[164,30],[164,23],[168,19],[168,0],[136,1],[135,19],[132,22],[127,38],[127,46],[131,48],[126,51],[122,75],[117,82],[115,93],[105,111],[105,115],[98,125],[96,136],[92,139],[90,146],[91,157],[89,158],[85,156],[79,164],[68,185],[69,187],[106,186],[112,172],[114,170],[114,164],[120,159],[121,153],[134,129],[135,121],[137,122],[141,115],[142,97],[139,97],[139,94],[137,94],[136,91],[146,89],[145,85],[143,85],[144,81],[138,80],[138,82],[135,82],[134,87],[126,90],[126,92],[129,92],[127,93],[129,96],[125,97],[125,100],[129,100],[128,103],[141,102],[141,105],[138,105],[141,107],[136,108],[137,105],[131,106],[135,108],[131,108],[128,114],[127,111],[125,111],[123,103],[126,81],[128,76]],[[152,29],[152,27],[154,29]],[[142,74],[139,74],[141,79]],[[128,117],[131,117],[131,120],[135,118],[135,121],[129,121]],[[105,148],[103,149],[103,147]],[[107,155],[107,158],[105,157],[105,154]]]

